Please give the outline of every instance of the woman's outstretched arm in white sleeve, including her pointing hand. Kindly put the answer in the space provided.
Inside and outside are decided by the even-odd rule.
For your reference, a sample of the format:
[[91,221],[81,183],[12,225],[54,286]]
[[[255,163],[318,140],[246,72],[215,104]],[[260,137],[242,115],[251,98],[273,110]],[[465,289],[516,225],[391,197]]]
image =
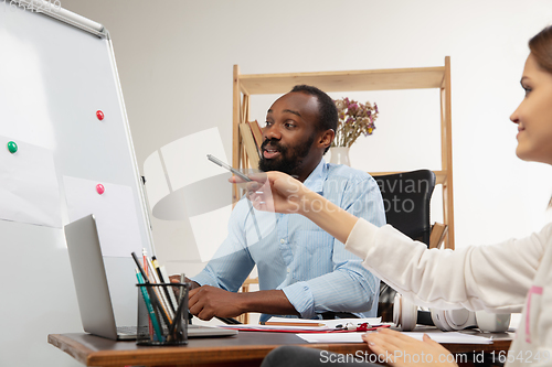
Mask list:
[[257,209],[305,215],[418,305],[520,312],[544,244],[552,237],[552,226],[548,226],[540,234],[495,246],[428,250],[391,226],[359,222],[284,173],[253,179],[257,182],[250,183],[248,196]]

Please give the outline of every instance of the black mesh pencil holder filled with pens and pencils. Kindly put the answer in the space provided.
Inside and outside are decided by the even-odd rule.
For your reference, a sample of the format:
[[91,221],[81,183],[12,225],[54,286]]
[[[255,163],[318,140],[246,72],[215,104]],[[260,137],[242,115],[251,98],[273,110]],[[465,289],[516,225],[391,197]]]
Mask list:
[[146,283],[138,288],[139,345],[188,344],[187,283]]

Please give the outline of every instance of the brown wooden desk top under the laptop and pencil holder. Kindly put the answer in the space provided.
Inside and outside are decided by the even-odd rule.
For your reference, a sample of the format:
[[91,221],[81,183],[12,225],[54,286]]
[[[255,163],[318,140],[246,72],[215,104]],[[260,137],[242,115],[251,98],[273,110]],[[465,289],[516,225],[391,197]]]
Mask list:
[[[439,333],[437,330],[416,330]],[[480,334],[490,336],[490,334]],[[513,334],[492,334],[493,344],[443,344],[452,353],[508,350]],[[192,338],[185,346],[148,347],[89,334],[51,334],[47,342],[86,366],[258,366],[280,345],[302,345],[336,353],[369,350],[367,344],[307,344],[295,334],[240,332],[237,336]]]

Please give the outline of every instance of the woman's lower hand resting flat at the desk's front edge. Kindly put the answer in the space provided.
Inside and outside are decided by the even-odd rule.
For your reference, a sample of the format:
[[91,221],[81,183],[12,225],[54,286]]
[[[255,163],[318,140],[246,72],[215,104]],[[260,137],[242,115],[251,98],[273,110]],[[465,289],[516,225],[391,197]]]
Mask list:
[[380,328],[376,333],[362,335],[362,339],[381,358],[389,356],[385,361],[391,366],[458,366],[450,352],[427,334],[421,342],[400,332]]

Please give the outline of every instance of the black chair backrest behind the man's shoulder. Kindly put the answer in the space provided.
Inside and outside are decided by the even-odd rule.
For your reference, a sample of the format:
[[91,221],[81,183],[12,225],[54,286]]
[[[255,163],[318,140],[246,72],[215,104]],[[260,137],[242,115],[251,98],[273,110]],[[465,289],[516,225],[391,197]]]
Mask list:
[[374,176],[383,197],[388,224],[429,246],[429,201],[435,173],[429,170]]

